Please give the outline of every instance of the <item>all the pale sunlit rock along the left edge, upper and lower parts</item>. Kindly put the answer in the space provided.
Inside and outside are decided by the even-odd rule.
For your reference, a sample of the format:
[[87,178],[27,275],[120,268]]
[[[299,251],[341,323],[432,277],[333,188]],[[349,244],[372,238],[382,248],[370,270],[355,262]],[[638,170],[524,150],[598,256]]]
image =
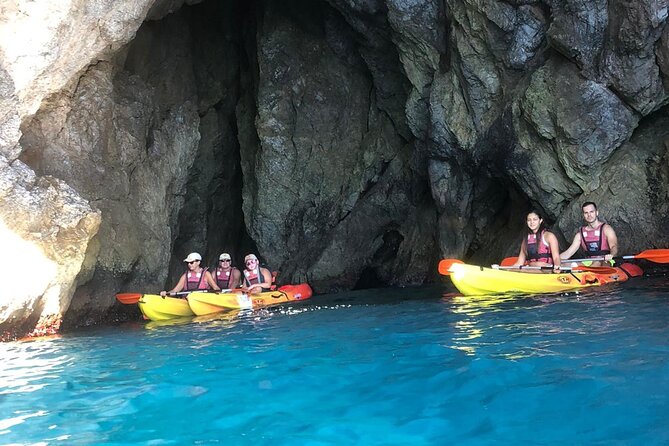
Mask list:
[[[89,66],[130,41],[148,7],[134,1],[3,2],[0,220],[3,247],[17,263],[2,268],[0,279],[16,283],[16,277],[26,277],[27,282],[3,292],[3,339],[58,329],[86,256],[98,252],[93,238],[101,222],[100,211],[69,184],[72,178],[36,175],[19,159],[26,148],[22,128],[31,126],[44,100],[71,89]],[[30,283],[33,275],[38,279]]]

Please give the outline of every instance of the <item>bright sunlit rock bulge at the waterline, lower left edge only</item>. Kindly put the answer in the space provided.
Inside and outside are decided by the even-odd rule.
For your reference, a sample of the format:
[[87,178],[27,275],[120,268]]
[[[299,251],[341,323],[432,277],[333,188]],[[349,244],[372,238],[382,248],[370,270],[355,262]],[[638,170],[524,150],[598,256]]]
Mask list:
[[[57,330],[100,212],[67,184],[0,157],[0,337]],[[11,203],[11,206],[7,206]]]

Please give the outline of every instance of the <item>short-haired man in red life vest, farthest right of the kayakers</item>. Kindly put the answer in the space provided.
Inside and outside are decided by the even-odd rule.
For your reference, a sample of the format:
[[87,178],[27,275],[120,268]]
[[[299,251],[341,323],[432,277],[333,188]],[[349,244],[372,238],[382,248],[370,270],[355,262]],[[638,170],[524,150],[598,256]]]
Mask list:
[[[583,203],[583,219],[586,225],[574,236],[571,246],[560,254],[561,259],[569,259],[579,248],[587,258],[603,257],[610,261],[618,254],[618,237],[611,225],[599,220],[597,205],[592,201]],[[601,261],[593,261],[592,266],[602,266]]]

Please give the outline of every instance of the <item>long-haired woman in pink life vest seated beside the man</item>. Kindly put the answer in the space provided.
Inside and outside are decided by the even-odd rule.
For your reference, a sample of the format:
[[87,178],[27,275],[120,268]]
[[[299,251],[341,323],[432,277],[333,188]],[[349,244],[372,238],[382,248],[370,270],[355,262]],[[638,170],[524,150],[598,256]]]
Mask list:
[[527,234],[520,245],[518,260],[513,266],[552,266],[560,272],[560,246],[557,237],[549,232],[537,211],[527,214]]

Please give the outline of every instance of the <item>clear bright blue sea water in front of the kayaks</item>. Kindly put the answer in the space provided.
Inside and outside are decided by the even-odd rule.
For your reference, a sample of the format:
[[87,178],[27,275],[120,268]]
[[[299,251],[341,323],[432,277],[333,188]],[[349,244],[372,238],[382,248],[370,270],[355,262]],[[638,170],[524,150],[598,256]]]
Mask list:
[[669,278],[0,344],[0,444],[669,444]]

